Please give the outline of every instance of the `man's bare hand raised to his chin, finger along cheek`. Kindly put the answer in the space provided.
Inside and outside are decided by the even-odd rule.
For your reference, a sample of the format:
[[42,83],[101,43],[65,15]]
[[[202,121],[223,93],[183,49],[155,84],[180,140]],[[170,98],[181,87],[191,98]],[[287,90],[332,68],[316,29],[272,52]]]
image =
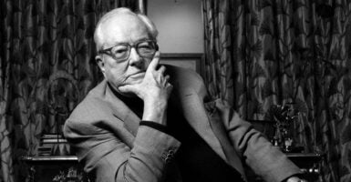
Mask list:
[[168,82],[170,76],[164,76],[166,68],[160,66],[160,52],[156,52],[144,79],[136,85],[119,86],[119,91],[134,93],[144,101],[144,114],[142,120],[154,121],[166,125],[165,112],[168,98],[173,86]]

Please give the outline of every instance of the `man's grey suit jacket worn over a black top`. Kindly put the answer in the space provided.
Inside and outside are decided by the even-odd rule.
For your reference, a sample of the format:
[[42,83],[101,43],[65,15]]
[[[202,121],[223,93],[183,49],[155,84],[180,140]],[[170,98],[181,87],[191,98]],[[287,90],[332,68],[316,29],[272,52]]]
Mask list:
[[[300,172],[230,106],[220,99],[206,101],[201,76],[174,66],[167,67],[167,74],[174,86],[170,102],[244,179],[243,162],[269,182]],[[177,167],[170,162],[181,143],[150,126],[139,126],[139,121],[104,80],[68,117],[64,134],[85,171],[97,181],[181,181]]]

